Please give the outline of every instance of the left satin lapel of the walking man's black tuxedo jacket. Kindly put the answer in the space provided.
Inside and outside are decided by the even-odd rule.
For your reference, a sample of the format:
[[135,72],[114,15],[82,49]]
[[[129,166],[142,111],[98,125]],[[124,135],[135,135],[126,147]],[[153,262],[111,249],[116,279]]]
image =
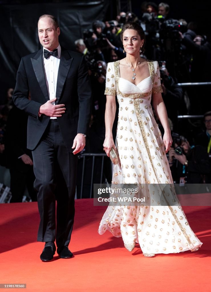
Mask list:
[[34,73],[46,100],[49,100],[48,89],[46,85],[46,78],[43,68],[43,49],[37,52],[34,58],[31,58]]

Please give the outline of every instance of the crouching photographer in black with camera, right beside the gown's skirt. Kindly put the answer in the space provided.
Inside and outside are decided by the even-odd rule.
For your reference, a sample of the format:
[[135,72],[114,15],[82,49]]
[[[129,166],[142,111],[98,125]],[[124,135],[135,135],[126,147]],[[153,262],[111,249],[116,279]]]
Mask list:
[[203,146],[190,146],[180,137],[169,150],[169,166],[175,183],[207,183],[210,174],[209,156]]

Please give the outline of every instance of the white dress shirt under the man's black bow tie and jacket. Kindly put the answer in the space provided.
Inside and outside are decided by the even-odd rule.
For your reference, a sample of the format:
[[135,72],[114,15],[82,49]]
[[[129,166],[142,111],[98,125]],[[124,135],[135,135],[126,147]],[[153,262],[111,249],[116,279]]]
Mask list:
[[[48,96],[51,100],[56,97],[56,85],[61,57],[61,46],[59,44],[59,46],[57,47],[58,57],[50,56],[48,59],[46,59],[44,58],[44,50],[49,50],[43,47],[43,67],[48,89]],[[55,102],[53,103],[53,105],[55,105]],[[50,117],[50,119],[56,119],[56,117]]]

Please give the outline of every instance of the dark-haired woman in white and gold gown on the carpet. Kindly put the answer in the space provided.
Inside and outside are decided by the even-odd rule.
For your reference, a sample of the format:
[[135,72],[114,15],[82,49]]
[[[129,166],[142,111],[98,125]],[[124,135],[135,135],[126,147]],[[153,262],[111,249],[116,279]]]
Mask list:
[[[136,23],[129,22],[123,26],[121,39],[126,58],[107,66],[106,135],[103,146],[108,156],[111,147],[115,148],[112,126],[117,95],[116,152],[119,162],[113,167],[112,183],[142,185],[145,194],[148,194],[149,204],[126,206],[118,203],[108,206],[98,232],[103,234],[109,230],[116,237],[122,236],[129,251],[133,250],[135,242],[139,242],[144,256],[149,257],[157,253],[198,250],[202,243],[191,230],[177,201],[165,154],[170,149],[172,138],[161,95],[158,62],[140,58],[144,32]],[[151,98],[165,131],[163,140],[154,119]],[[165,204],[160,205],[160,202],[153,200],[153,196],[159,193],[162,185],[169,186],[172,199],[166,199],[169,192],[166,195],[163,192]]]

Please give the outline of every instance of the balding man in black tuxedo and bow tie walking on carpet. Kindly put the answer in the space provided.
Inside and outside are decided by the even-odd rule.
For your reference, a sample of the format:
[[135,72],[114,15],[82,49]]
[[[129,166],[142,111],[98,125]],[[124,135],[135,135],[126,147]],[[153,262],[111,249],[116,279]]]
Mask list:
[[29,114],[27,148],[32,150],[40,213],[37,240],[46,243],[40,258],[48,261],[55,254],[54,241],[60,258],[72,257],[68,245],[75,212],[76,154],[86,142],[91,89],[84,56],[60,47],[54,16],[39,18],[38,34],[43,48],[22,58],[13,100]]

